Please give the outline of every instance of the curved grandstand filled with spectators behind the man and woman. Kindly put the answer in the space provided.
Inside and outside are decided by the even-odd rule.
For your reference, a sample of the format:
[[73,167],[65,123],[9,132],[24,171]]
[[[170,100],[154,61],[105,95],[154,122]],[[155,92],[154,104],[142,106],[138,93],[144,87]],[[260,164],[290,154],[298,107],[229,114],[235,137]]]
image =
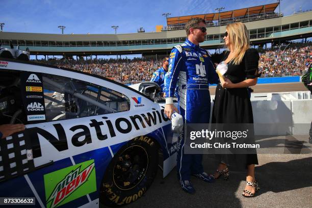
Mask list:
[[[168,27],[156,33],[73,35],[1,32],[0,41],[7,47],[10,43],[19,45],[20,49],[28,47],[36,59],[37,55],[45,56],[45,60],[40,61],[43,63],[95,73],[122,83],[136,83],[149,80],[158,67],[157,57],[168,56],[174,45],[185,41],[184,27],[190,18],[201,17],[207,21],[207,35],[200,44],[205,49],[223,48],[226,24],[242,21],[249,31],[251,46],[256,46],[262,53],[259,68],[264,77],[301,75],[311,61],[311,45],[307,38],[312,37],[312,11],[283,16],[275,12],[277,6],[278,3],[274,3],[213,14],[170,17],[167,18]],[[296,39],[302,39],[305,44],[289,47],[289,43]],[[267,44],[277,49],[266,50]],[[97,55],[135,54],[141,54],[143,59],[97,59]],[[48,60],[48,56],[54,55],[67,59]],[[80,60],[74,61],[74,56]],[[88,56],[95,56],[96,60],[81,59]]]

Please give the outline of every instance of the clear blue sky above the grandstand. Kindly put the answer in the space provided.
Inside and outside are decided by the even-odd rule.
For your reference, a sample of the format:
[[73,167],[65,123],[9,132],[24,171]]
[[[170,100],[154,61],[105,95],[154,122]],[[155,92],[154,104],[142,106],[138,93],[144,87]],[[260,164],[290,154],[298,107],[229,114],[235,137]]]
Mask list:
[[[61,33],[58,25],[65,25],[65,34],[136,33],[143,27],[155,31],[155,25],[165,25],[163,13],[171,17],[213,13],[215,8],[224,11],[275,3],[274,0],[170,0],[170,1],[93,1],[93,0],[1,0],[0,22],[6,32]],[[312,9],[308,0],[282,0],[281,12],[291,15],[294,10]],[[278,8],[275,10],[278,12]]]

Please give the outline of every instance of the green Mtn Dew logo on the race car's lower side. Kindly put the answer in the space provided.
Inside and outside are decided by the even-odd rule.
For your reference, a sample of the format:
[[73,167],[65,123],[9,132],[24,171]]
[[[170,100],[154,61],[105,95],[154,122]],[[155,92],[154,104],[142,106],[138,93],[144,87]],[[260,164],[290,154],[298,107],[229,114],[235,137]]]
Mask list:
[[45,174],[46,206],[58,207],[96,191],[94,160]]

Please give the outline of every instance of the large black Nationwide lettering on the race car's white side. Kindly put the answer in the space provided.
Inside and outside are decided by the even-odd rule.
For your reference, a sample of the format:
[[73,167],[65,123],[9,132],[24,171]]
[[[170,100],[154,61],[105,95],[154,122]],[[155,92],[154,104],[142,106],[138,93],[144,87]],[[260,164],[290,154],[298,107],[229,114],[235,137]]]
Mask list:
[[[164,114],[164,109],[161,109],[145,114],[142,113],[133,116],[119,117],[113,121],[105,116],[101,117],[101,119],[90,119],[88,124],[73,125],[69,127],[69,129],[67,127],[64,129],[61,123],[56,123],[53,124],[53,127],[57,132],[57,137],[51,134],[51,131],[46,131],[39,127],[33,127],[29,129],[29,136],[35,147],[33,148],[33,156],[34,158],[38,158],[42,155],[39,135],[52,144],[58,151],[64,151],[68,149],[68,141],[71,141],[72,145],[75,147],[81,147],[92,143],[91,129],[95,130],[96,139],[104,141],[115,138],[117,133],[131,134],[132,131],[140,130],[142,128],[144,129],[148,126],[155,126],[168,120],[169,119]],[[102,131],[101,126],[106,126],[107,131]],[[68,131],[77,131],[78,133],[72,135],[71,138],[67,138],[65,132]]]

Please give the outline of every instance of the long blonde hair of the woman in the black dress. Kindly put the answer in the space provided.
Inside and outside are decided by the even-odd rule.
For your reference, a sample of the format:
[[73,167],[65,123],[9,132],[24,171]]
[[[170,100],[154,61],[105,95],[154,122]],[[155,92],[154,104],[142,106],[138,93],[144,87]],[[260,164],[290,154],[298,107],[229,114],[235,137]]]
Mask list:
[[250,47],[248,30],[242,22],[230,23],[226,26],[226,30],[231,49],[235,52],[235,57],[230,62],[238,65],[242,62],[245,51]]

